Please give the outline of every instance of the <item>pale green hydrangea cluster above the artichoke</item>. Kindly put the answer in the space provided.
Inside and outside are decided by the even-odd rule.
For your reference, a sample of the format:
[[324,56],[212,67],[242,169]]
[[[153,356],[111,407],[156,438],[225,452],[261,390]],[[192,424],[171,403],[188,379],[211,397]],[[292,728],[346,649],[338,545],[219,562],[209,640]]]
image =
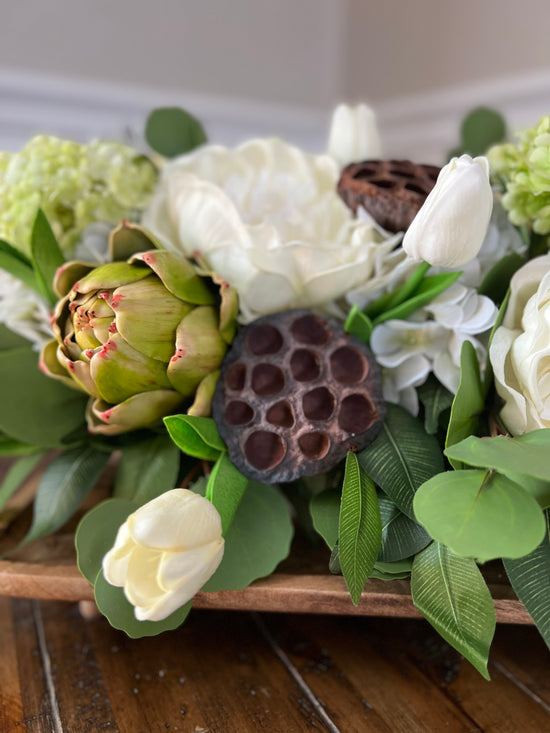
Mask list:
[[38,135],[19,153],[0,153],[0,238],[28,254],[40,207],[70,254],[92,222],[136,220],[156,180],[151,161],[126,145]]

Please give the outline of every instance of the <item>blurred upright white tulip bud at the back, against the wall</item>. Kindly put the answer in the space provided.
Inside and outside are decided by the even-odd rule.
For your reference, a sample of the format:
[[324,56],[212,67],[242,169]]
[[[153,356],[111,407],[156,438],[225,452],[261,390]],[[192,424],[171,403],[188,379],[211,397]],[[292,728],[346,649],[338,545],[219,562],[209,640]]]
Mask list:
[[366,104],[340,104],[332,114],[328,154],[342,168],[369,158],[380,158],[382,146],[374,111]]

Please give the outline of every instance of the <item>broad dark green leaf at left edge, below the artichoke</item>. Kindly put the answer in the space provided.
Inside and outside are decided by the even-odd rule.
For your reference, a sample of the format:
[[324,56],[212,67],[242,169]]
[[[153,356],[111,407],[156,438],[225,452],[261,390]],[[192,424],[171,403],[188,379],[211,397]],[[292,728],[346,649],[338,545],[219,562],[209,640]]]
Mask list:
[[0,430],[39,448],[60,448],[84,423],[87,396],[46,377],[30,347],[0,352]]

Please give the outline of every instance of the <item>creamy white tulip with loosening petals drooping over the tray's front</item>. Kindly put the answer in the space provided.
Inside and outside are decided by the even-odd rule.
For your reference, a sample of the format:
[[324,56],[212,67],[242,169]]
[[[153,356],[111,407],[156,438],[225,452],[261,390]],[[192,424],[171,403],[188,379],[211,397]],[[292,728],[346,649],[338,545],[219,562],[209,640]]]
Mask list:
[[221,518],[208,499],[173,489],[131,514],[103,558],[138,621],[161,621],[189,601],[222,561]]

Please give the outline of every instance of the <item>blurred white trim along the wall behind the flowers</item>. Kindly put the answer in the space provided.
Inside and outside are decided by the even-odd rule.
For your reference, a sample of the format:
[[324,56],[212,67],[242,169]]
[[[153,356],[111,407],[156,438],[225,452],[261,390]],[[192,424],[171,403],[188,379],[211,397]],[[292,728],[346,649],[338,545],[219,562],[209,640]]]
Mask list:
[[[131,138],[140,144],[147,113],[154,107],[179,105],[205,123],[212,140],[226,145],[278,135],[307,150],[322,151],[330,119],[330,110],[18,70],[0,72],[0,100],[2,150],[17,150],[39,132],[78,141]],[[375,108],[388,157],[441,163],[457,144],[460,120],[471,108],[498,109],[514,131],[550,114],[549,100],[550,68],[389,99]]]

